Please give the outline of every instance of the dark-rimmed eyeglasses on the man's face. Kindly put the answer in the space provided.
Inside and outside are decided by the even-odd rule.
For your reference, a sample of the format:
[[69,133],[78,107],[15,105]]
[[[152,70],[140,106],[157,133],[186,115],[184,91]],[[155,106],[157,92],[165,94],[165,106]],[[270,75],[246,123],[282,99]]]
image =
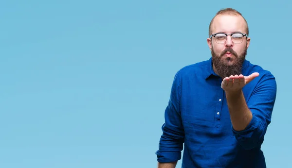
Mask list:
[[212,34],[210,38],[212,38],[213,36],[215,37],[215,41],[218,44],[223,44],[226,42],[228,35],[231,35],[232,42],[236,44],[241,43],[243,41],[244,36],[248,37],[247,34],[243,34],[243,33],[232,33],[232,34],[217,33],[217,34]]

